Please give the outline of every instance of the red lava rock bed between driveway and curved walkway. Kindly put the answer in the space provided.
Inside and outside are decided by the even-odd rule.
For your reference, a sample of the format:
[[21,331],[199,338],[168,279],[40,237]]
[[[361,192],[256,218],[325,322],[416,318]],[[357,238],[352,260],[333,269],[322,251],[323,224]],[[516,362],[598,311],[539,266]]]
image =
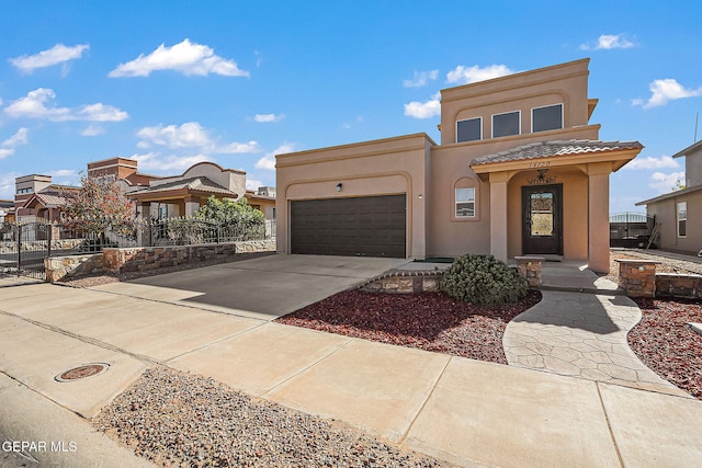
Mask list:
[[347,290],[276,319],[381,343],[507,364],[507,323],[541,300],[530,290],[520,303],[476,306],[440,294],[376,294]]

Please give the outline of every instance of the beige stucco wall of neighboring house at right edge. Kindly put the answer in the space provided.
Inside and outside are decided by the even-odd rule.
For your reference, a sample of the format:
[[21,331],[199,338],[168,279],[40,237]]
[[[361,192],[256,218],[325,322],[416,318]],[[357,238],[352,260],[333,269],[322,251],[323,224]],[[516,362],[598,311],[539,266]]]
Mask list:
[[[687,236],[678,237],[678,203],[688,203]],[[702,191],[683,193],[660,202],[649,203],[646,213],[660,224],[656,242],[664,250],[697,254],[702,250]]]

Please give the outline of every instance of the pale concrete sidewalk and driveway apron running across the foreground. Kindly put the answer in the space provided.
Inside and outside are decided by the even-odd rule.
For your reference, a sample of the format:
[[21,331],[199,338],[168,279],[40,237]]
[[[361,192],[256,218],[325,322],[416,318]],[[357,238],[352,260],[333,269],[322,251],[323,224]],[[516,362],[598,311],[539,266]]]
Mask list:
[[[182,289],[140,286],[140,295],[152,288],[160,299],[48,284],[0,289],[0,438],[75,442],[92,434],[95,442],[79,443],[75,453],[36,458],[137,466],[143,460],[75,414],[94,415],[161,363],[460,466],[702,459],[702,402],[694,399],[222,313],[182,300]],[[110,369],[71,383],[54,378],[95,362]],[[60,432],[42,414],[60,420]],[[104,461],[88,461],[99,455]]]

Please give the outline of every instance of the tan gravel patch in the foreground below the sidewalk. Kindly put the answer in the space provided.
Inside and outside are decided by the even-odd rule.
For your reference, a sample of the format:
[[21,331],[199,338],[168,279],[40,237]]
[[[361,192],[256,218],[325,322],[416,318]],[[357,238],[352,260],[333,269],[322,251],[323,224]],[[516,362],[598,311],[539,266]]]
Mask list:
[[92,424],[167,467],[444,467],[333,420],[152,367]]

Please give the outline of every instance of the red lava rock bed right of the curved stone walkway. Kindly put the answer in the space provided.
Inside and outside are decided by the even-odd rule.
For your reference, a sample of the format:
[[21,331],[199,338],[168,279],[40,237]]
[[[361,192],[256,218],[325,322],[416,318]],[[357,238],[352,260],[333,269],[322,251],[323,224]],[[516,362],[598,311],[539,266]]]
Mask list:
[[702,400],[702,335],[687,322],[702,323],[702,301],[635,299],[642,321],[629,345],[660,377]]

